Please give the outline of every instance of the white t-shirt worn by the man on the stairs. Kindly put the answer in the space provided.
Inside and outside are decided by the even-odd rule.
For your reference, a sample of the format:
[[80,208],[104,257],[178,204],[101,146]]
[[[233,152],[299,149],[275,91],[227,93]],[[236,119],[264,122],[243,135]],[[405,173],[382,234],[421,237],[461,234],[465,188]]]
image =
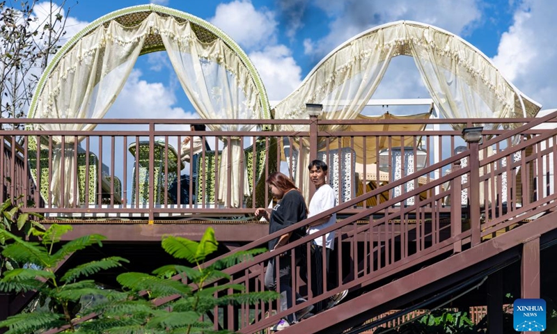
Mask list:
[[[311,198],[311,201],[309,202],[309,215],[308,218],[311,216],[315,216],[317,214],[320,214],[321,212],[324,212],[328,209],[331,209],[333,207],[336,206],[336,197],[335,197],[335,191],[331,188],[331,186],[329,186],[329,184],[323,184],[322,186],[320,186],[319,188],[317,188],[317,191],[315,191],[315,194],[313,194],[313,197]],[[317,225],[317,226],[312,226],[311,228],[309,228],[309,234],[313,234],[317,231],[323,230],[324,228],[328,228],[329,226],[333,225],[334,223],[336,223],[336,214],[333,214],[331,217],[329,217],[329,221],[326,221],[324,223],[322,223],[321,225]],[[334,249],[334,239],[335,239],[335,232],[329,232],[327,234],[325,234],[325,247],[330,248],[330,249]],[[323,241],[322,241],[322,237],[318,237],[315,238],[315,244],[319,245],[319,246],[323,246]]]

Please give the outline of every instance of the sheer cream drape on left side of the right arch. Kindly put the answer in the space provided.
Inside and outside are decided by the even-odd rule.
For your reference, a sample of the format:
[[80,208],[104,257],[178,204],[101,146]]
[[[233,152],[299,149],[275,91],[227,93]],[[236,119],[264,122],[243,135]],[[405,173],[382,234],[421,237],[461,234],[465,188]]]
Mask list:
[[[323,105],[320,119],[353,119],[362,111],[379,86],[389,62],[396,51],[395,46],[376,49],[385,40],[384,33],[355,40],[352,45],[338,50],[324,61],[308,77],[298,90],[275,107],[278,119],[307,119],[306,103]],[[387,37],[388,38],[388,37]],[[307,126],[283,125],[286,131],[308,131]],[[320,131],[340,131],[340,125],[321,126]],[[324,147],[324,138],[317,143]],[[306,166],[309,163],[309,144],[299,145],[299,159],[295,184],[309,200],[309,177]]]

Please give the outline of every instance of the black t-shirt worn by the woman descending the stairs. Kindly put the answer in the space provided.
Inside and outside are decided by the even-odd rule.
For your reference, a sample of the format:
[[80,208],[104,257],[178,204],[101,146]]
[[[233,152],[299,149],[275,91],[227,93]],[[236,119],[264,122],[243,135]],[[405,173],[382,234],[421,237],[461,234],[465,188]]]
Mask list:
[[[303,221],[308,216],[306,211],[306,202],[304,202],[304,196],[297,190],[288,191],[285,193],[283,198],[275,205],[271,213],[271,218],[269,220],[269,234],[282,230],[283,228],[288,228],[290,225],[294,225],[299,221]],[[304,237],[306,234],[305,228],[299,228],[292,232],[292,236],[288,241],[296,241],[297,239]],[[269,241],[269,250],[272,250],[278,238]]]

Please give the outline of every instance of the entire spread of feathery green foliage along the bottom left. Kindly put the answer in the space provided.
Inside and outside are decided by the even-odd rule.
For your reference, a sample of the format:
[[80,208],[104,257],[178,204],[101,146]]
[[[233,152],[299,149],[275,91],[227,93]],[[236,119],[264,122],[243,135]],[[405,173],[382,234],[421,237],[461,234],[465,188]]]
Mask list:
[[[201,241],[180,237],[164,237],[163,248],[178,259],[191,260],[195,268],[182,264],[166,265],[152,273],[127,272],[118,275],[119,291],[102,289],[93,280],[86,279],[100,271],[120,267],[127,260],[107,257],[102,260],[79,264],[68,269],[61,277],[54,273],[68,255],[88,246],[102,246],[104,237],[93,234],[80,237],[58,246],[63,234],[71,228],[52,225],[44,232],[31,230],[40,242],[25,241],[7,231],[0,231],[10,240],[2,254],[25,264],[24,269],[8,271],[0,278],[0,291],[20,292],[35,289],[42,300],[49,300],[48,312],[22,313],[0,321],[8,327],[8,334],[32,333],[45,329],[68,326],[75,333],[227,333],[214,331],[212,321],[204,315],[216,307],[232,304],[253,305],[272,301],[276,292],[245,293],[242,285],[230,284],[230,276],[219,271],[230,265],[249,260],[264,250],[252,250],[232,255],[204,266],[207,257],[217,250],[214,230],[208,228]],[[56,247],[55,247],[56,246]],[[58,250],[54,251],[54,248]],[[173,276],[178,275],[180,280]],[[182,283],[187,280],[189,285]],[[222,284],[217,284],[222,283]],[[98,302],[84,307],[84,300],[91,296]],[[156,299],[179,297],[157,306]],[[80,317],[94,312],[96,317],[77,324]],[[29,321],[28,321],[29,319]]]

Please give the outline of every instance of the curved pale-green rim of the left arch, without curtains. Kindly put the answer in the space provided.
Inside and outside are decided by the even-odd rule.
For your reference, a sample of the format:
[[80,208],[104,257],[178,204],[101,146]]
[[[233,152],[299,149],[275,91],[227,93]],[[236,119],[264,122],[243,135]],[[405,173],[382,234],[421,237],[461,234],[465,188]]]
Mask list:
[[[31,100],[31,106],[29,107],[29,113],[27,114],[27,118],[34,118],[36,108],[37,108],[38,97],[40,93],[42,93],[42,90],[45,88],[45,84],[47,82],[49,75],[58,66],[58,63],[61,61],[63,56],[65,56],[65,54],[68,51],[70,51],[74,47],[74,45],[79,40],[81,40],[81,38],[83,38],[88,33],[91,33],[91,31],[93,31],[94,29],[97,29],[98,26],[110,22],[111,20],[116,19],[117,17],[122,17],[124,15],[128,15],[131,13],[139,13],[139,12],[157,12],[157,13],[170,15],[173,17],[180,17],[182,19],[187,19],[188,21],[193,22],[198,26],[202,26],[203,29],[206,29],[207,31],[214,33],[214,35],[217,35],[218,38],[223,40],[223,42],[225,42],[226,45],[228,45],[228,47],[230,47],[230,49],[232,49],[235,52],[235,54],[237,54],[237,56],[240,57],[242,63],[244,63],[247,70],[249,71],[251,75],[251,79],[253,80],[259,92],[259,103],[261,105],[264,119],[272,118],[270,113],[270,108],[269,108],[269,99],[267,97],[267,90],[265,90],[265,86],[263,85],[263,82],[261,80],[258,71],[256,70],[256,67],[253,65],[253,63],[251,62],[247,54],[244,52],[244,50],[242,50],[242,48],[240,48],[240,46],[237,45],[237,43],[232,38],[230,38],[230,36],[226,35],[226,33],[221,31],[221,29],[217,28],[217,26],[210,24],[204,19],[182,12],[180,10],[175,10],[172,8],[167,8],[155,4],[132,6],[120,10],[115,10],[112,13],[104,15],[98,19],[95,19],[95,21],[88,24],[84,29],[81,29],[81,31],[76,33],[70,40],[68,40],[68,42],[66,42],[63,45],[63,47],[61,47],[61,49],[58,50],[54,58],[52,58],[52,61],[47,66],[45,72],[42,73],[38,81],[35,93],[33,93],[33,99]],[[270,126],[264,125],[263,129],[264,130],[270,129]]]

